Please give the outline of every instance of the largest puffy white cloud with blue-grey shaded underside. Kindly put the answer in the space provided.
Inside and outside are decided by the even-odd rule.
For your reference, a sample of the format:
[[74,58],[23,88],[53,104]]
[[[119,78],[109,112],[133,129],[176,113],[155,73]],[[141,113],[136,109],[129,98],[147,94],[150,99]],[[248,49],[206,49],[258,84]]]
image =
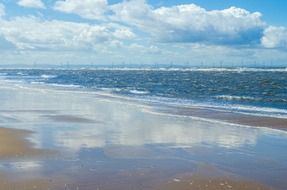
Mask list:
[[236,7],[213,11],[194,4],[153,8],[145,0],[129,0],[111,9],[114,19],[137,26],[165,42],[260,43],[265,27],[259,12]]

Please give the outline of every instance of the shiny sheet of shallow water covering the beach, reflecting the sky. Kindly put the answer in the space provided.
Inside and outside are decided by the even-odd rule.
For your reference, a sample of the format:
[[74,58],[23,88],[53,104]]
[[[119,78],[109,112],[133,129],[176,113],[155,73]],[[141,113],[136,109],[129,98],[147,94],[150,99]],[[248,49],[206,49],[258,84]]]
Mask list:
[[0,154],[0,189],[154,189],[194,174],[287,188],[284,131],[71,89],[1,82],[0,92],[0,127],[33,131],[30,146],[51,152]]

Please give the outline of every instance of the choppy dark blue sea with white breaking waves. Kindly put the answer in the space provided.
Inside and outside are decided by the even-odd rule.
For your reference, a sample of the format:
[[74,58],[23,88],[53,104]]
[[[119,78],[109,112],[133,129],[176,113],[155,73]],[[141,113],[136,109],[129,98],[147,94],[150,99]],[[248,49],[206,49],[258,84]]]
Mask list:
[[0,69],[1,80],[287,118],[287,68]]

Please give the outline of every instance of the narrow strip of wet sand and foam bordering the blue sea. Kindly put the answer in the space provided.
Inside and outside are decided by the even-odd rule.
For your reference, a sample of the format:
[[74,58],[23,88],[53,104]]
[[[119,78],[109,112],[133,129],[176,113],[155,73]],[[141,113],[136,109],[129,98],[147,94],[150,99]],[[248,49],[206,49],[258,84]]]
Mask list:
[[[9,81],[12,84],[15,81]],[[159,102],[147,102],[141,99],[126,97],[120,94],[113,94],[104,91],[94,91],[91,89],[78,88],[75,86],[65,86],[65,85],[54,85],[54,84],[28,84],[20,83],[21,85],[27,85],[31,89],[39,90],[37,88],[43,88],[44,90],[59,90],[64,92],[72,92],[85,94],[89,93],[95,95],[98,98],[111,99],[114,101],[124,101],[128,104],[135,104],[137,106],[147,106],[151,108],[152,112],[157,112],[157,114],[170,114],[179,117],[191,117],[193,119],[206,120],[209,122],[222,122],[230,125],[239,125],[245,127],[263,127],[269,129],[281,130],[283,132],[287,131],[287,118],[267,116],[267,115],[256,115],[252,113],[242,113],[232,110],[225,110],[221,108],[210,108],[205,106],[185,106],[185,105],[165,105]]]

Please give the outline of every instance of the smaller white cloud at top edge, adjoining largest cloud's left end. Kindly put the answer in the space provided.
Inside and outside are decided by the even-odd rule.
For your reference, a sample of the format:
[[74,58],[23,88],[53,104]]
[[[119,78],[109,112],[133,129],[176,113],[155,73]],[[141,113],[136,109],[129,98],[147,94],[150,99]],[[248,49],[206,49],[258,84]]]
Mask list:
[[107,0],[59,0],[55,3],[54,9],[87,19],[101,19],[107,6]]

